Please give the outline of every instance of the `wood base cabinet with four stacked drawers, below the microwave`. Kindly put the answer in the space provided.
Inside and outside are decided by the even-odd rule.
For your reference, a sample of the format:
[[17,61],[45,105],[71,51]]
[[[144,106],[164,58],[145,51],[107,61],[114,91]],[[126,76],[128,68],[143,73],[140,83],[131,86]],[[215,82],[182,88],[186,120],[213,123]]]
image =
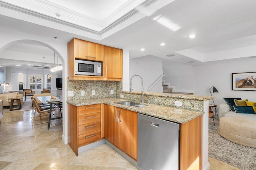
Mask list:
[[[102,105],[102,106],[101,106]],[[78,148],[104,139],[103,104],[68,104],[68,145],[78,156]]]

